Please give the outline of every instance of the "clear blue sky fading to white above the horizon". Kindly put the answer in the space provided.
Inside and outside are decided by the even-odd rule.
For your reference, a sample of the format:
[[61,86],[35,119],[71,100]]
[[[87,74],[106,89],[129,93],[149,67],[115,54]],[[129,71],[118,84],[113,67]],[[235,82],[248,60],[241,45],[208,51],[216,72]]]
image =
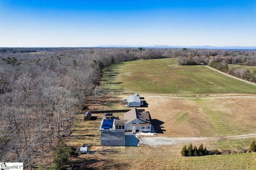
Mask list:
[[256,0],[0,0],[0,47],[256,46]]

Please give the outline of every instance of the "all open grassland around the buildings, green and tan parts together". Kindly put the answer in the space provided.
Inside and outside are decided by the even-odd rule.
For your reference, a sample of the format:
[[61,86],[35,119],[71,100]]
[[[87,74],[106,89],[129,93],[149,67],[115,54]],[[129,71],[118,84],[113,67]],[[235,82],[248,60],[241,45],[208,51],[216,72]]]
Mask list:
[[[148,69],[150,68],[150,69]],[[150,74],[146,75],[146,70]],[[178,71],[178,72],[176,72]],[[145,74],[145,76],[143,76]],[[134,80],[133,80],[134,78]],[[154,81],[156,79],[157,81]],[[182,81],[186,83],[182,84]],[[154,82],[153,82],[154,81]],[[180,84],[179,84],[180,83]],[[176,85],[178,95],[176,97]],[[201,87],[196,89],[197,85]],[[151,86],[150,86],[151,85]],[[225,136],[255,134],[256,86],[243,83],[204,66],[179,66],[174,59],[154,59],[117,63],[106,68],[101,89],[108,105],[88,104],[90,110],[127,109],[122,101],[140,93],[148,104],[158,138],[201,138],[208,150],[249,148],[254,136],[225,139]],[[172,88],[168,88],[172,87]],[[116,115],[122,119],[123,113]],[[67,139],[69,146],[92,144],[93,154],[72,158],[70,168],[91,169],[256,169],[256,153],[184,157],[180,150],[190,141],[169,145],[102,147],[98,128],[104,115],[82,121],[78,115]],[[207,138],[215,138],[208,140]],[[146,137],[145,137],[146,138]],[[143,140],[139,136],[139,139]],[[86,162],[86,163],[84,163]]]

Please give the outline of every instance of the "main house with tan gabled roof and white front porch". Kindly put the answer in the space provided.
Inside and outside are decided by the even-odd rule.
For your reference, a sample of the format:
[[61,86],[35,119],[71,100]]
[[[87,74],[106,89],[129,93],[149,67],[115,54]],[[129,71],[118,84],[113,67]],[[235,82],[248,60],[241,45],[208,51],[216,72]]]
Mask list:
[[151,122],[149,112],[141,112],[134,108],[124,113],[124,119],[114,121],[115,129],[136,132],[150,132]]

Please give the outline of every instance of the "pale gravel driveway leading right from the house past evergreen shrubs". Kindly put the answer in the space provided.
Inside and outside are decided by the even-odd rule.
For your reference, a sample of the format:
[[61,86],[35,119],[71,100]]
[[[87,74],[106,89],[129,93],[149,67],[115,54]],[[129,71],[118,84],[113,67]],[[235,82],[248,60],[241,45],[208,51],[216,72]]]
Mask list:
[[150,146],[158,145],[173,145],[182,144],[189,142],[208,142],[217,140],[231,140],[231,139],[241,139],[241,138],[253,138],[256,137],[256,133],[243,134],[237,136],[220,136],[220,137],[201,137],[201,138],[168,138],[168,137],[158,137],[158,136],[138,136],[140,140],[139,144],[146,144]]

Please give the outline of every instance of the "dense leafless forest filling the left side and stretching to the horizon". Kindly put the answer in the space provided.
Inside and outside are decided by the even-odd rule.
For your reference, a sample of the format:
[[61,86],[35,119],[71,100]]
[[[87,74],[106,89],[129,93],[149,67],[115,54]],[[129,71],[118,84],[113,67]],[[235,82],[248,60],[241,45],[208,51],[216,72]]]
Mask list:
[[[227,64],[256,66],[255,51],[149,48],[0,48],[0,160],[38,166],[68,136],[84,97],[99,91],[104,67],[118,61],[177,58],[232,75]],[[250,72],[250,71],[249,71]],[[252,74],[252,73],[251,73]]]

